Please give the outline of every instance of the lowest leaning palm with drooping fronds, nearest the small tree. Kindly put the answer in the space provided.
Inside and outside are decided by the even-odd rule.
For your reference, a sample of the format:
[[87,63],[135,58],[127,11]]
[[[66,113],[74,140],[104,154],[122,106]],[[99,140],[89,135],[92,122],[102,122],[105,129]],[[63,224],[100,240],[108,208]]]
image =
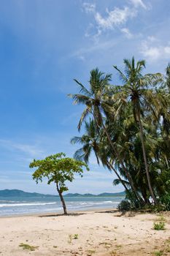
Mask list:
[[122,180],[120,175],[117,173],[117,170],[108,160],[108,154],[105,151],[104,143],[101,141],[102,135],[101,131],[98,132],[98,128],[93,120],[89,122],[85,121],[85,134],[82,137],[74,137],[71,139],[71,143],[80,143],[82,148],[77,149],[74,153],[74,158],[78,160],[83,160],[85,163],[88,163],[91,151],[96,155],[98,165],[100,165],[100,160],[104,167],[106,166],[109,170],[113,170],[118,177],[118,180],[125,188],[125,191],[128,191],[128,187],[125,185],[125,181]]

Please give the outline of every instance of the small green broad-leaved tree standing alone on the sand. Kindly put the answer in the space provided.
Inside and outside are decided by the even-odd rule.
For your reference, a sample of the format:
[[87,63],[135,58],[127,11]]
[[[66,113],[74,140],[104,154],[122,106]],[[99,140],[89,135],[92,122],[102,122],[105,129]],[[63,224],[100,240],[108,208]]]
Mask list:
[[67,214],[66,203],[64,202],[62,195],[63,192],[69,190],[65,183],[66,181],[72,182],[75,173],[82,177],[82,168],[85,167],[86,170],[89,170],[88,165],[86,165],[85,162],[66,157],[66,154],[58,153],[42,160],[34,159],[29,167],[37,167],[32,175],[33,179],[36,180],[36,184],[39,181],[42,182],[42,178],[47,178],[47,184],[50,184],[51,182],[55,183],[63,205],[63,212],[64,214]]

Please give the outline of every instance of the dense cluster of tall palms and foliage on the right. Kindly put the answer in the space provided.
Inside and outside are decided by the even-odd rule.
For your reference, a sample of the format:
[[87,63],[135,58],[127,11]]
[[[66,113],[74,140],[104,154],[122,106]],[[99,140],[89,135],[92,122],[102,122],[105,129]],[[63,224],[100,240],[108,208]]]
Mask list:
[[145,61],[124,60],[124,71],[114,69],[121,84],[112,85],[112,75],[97,68],[90,72],[88,86],[75,80],[79,94],[69,94],[74,104],[85,105],[72,138],[79,143],[74,157],[88,163],[91,152],[122,184],[134,207],[170,203],[170,66],[161,73],[143,75]]

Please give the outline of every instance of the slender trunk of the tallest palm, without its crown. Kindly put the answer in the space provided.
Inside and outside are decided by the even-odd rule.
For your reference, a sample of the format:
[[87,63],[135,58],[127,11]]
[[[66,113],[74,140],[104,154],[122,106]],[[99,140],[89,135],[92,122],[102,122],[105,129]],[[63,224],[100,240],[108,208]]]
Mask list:
[[150,195],[152,197],[152,200],[156,204],[157,203],[157,199],[156,199],[156,197],[154,195],[154,192],[153,192],[153,189],[152,189],[152,185],[151,185],[151,182],[150,182],[150,173],[149,173],[149,170],[148,170],[147,156],[146,156],[146,151],[145,151],[145,146],[144,146],[144,132],[143,132],[143,127],[142,127],[141,116],[140,116],[139,110],[137,111],[137,117],[138,117],[138,121],[139,121],[140,137],[141,137],[141,142],[142,142],[144,166],[145,166],[145,170],[146,170],[146,173],[147,173],[148,187],[150,189]]

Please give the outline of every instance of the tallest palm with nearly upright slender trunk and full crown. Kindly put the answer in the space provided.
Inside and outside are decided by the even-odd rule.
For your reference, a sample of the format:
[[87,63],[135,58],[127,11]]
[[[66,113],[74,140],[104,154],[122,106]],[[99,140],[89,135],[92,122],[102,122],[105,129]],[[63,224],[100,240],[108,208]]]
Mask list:
[[124,59],[125,73],[121,72],[116,66],[113,66],[123,80],[123,86],[120,87],[120,92],[114,95],[117,101],[122,99],[124,102],[130,102],[134,111],[134,118],[136,124],[139,126],[140,138],[142,142],[142,152],[144,158],[144,166],[147,174],[148,187],[150,189],[150,195],[154,203],[157,203],[157,199],[154,195],[152,184],[150,181],[150,171],[147,164],[147,154],[144,145],[144,128],[142,116],[144,111],[151,111],[155,117],[158,107],[158,101],[152,90],[153,86],[161,82],[162,75],[160,73],[142,75],[142,70],[145,68],[145,61],[137,61],[135,65],[134,57],[131,60]]

